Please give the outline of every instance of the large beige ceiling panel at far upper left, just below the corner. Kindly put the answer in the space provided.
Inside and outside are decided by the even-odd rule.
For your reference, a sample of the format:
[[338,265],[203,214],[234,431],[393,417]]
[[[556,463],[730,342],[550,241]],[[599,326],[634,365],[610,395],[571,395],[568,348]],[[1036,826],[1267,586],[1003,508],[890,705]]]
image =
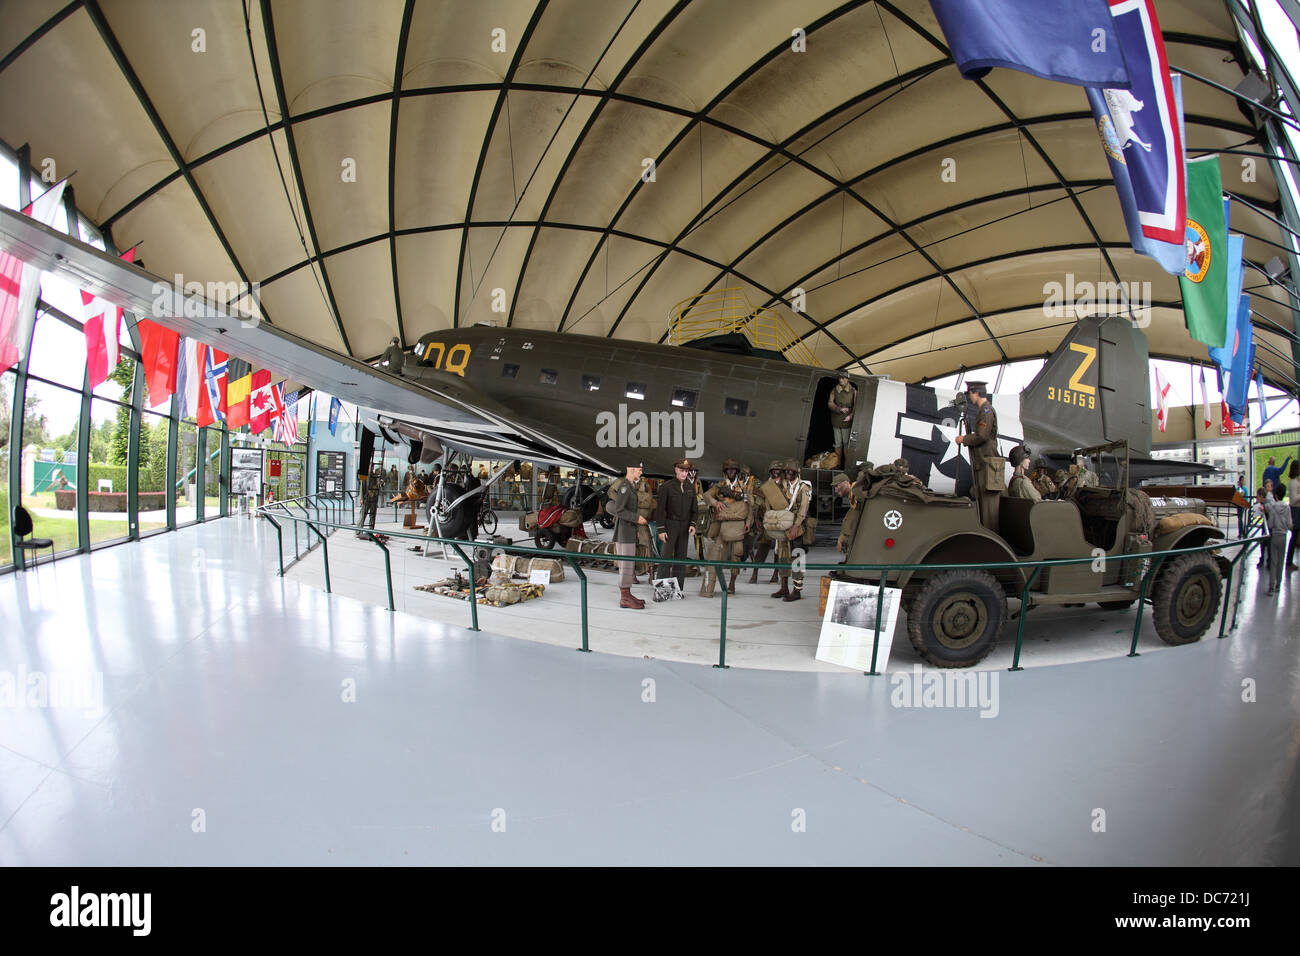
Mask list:
[[110,191],[125,193],[117,189],[124,178],[135,189],[174,169],[84,10],[42,36],[3,81],[0,137],[12,146],[30,143],[38,176],[75,170],[69,185],[83,211],[104,206]]

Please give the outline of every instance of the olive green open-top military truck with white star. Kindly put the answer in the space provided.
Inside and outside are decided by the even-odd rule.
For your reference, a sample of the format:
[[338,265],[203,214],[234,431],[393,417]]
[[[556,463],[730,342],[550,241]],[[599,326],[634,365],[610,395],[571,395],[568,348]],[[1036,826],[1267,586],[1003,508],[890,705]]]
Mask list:
[[[1027,562],[1092,558],[1043,567],[1028,591],[1030,606],[1131,606],[1152,551],[1205,545],[1223,535],[1192,498],[1147,498],[1128,488],[1128,449],[1112,442],[1078,449],[1100,473],[1097,486],[1074,489],[1061,501],[1000,498],[998,528],[980,524],[970,498],[930,492],[892,466],[872,472],[862,514],[848,548],[850,564],[949,564],[1026,562],[989,570],[889,572],[902,588],[913,646],[940,667],[968,667],[997,644],[1008,620],[1008,597],[1019,600],[1034,574]],[[1149,502],[1149,503],[1148,503]],[[1166,644],[1190,644],[1213,623],[1226,561],[1209,551],[1161,561],[1148,589],[1156,632]],[[876,583],[870,572],[835,576]],[[1027,609],[1022,609],[1024,613]]]

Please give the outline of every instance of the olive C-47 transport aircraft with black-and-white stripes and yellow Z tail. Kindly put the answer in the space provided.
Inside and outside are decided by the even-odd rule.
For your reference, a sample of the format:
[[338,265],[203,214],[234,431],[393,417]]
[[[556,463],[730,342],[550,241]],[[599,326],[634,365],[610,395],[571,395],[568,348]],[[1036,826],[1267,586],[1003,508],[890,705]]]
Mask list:
[[[528,329],[469,326],[426,333],[399,368],[376,368],[266,321],[242,320],[200,295],[0,208],[0,248],[86,291],[350,402],[363,420],[425,450],[526,459],[616,473],[645,462],[671,475],[682,455],[703,477],[737,458],[762,473],[833,445],[827,399],[836,372],[754,354],[740,334],[685,346]],[[395,364],[395,363],[394,363]],[[937,492],[963,493],[970,468],[952,442],[954,393],[875,376],[857,388],[848,468],[906,458]],[[1000,450],[1024,441],[1061,463],[1075,447],[1126,440],[1131,480],[1204,471],[1154,462],[1143,332],[1119,317],[1078,321],[1019,394],[993,395]]]

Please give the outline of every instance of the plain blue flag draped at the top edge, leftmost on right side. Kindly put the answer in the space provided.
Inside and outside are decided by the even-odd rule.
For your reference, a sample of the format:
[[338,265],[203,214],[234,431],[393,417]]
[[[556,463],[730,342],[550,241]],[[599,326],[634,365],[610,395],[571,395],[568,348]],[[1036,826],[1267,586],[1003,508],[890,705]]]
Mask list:
[[930,0],[930,5],[967,79],[1005,66],[1076,86],[1130,86],[1106,0]]

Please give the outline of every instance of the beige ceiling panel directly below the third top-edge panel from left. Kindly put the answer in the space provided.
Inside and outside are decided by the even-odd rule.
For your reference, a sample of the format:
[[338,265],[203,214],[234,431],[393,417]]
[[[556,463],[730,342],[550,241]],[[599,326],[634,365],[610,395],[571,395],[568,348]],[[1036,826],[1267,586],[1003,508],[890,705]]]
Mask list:
[[[377,103],[294,124],[322,251],[389,230],[389,104]],[[281,163],[287,163],[283,153]]]

